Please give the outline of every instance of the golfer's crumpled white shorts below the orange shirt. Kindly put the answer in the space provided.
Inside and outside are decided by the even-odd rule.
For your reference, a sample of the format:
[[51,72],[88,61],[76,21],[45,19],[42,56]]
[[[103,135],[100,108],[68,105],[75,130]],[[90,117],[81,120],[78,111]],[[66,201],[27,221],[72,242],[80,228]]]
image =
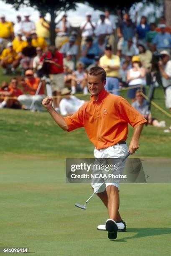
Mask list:
[[[127,144],[123,144],[123,145],[115,145],[115,146],[110,146],[108,148],[103,148],[100,150],[97,150],[97,148],[94,148],[94,157],[101,159],[101,158],[116,158],[116,159],[122,159],[125,157],[125,155],[127,154],[128,151],[128,146]],[[119,171],[120,174],[123,171],[123,168],[125,166],[125,162],[126,160],[120,165],[119,167]],[[98,189],[98,187],[100,187],[101,183],[96,183],[96,182],[92,182],[92,188],[94,189],[94,191],[96,191]],[[104,192],[106,187],[109,185],[113,185],[115,187],[119,187],[118,183],[107,183],[105,182],[102,187],[100,187],[100,189],[97,190],[96,193],[101,193]]]

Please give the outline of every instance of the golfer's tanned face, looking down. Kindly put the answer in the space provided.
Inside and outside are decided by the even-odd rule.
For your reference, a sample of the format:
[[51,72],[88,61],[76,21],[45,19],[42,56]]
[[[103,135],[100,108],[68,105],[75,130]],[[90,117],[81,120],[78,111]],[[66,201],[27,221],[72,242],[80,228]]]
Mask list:
[[93,96],[99,95],[99,93],[103,90],[105,87],[106,81],[102,82],[101,75],[93,76],[89,75],[87,76],[87,85],[89,89],[89,93]]

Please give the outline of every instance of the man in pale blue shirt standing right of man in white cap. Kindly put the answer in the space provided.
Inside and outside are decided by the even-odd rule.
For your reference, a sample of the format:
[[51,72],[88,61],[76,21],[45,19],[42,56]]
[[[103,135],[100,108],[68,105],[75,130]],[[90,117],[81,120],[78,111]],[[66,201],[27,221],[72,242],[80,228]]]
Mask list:
[[97,39],[101,35],[106,38],[106,36],[110,36],[112,34],[112,23],[110,25],[105,23],[105,14],[100,14],[100,20],[97,22],[94,34]]

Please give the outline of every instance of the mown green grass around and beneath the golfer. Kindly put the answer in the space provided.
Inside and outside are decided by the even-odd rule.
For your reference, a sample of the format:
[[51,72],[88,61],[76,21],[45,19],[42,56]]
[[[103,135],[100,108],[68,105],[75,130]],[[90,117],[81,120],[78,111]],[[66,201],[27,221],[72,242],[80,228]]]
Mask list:
[[[164,108],[160,88],[156,97]],[[154,108],[152,113],[168,128],[168,117]],[[46,112],[11,109],[0,110],[0,127],[0,247],[28,247],[36,256],[170,255],[171,184],[121,184],[128,232],[110,241],[97,230],[107,211],[96,195],[87,210],[74,206],[92,194],[90,184],[66,183],[66,158],[93,157],[84,129],[67,133]],[[128,144],[132,133],[129,126]],[[170,158],[171,133],[145,126],[130,157]]]

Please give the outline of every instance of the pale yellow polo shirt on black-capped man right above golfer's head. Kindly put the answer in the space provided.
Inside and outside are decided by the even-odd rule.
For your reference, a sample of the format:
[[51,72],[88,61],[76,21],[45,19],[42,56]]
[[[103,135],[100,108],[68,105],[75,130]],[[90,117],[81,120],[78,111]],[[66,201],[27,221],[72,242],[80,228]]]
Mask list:
[[[106,55],[100,58],[100,66],[120,66],[120,58],[117,55],[112,54],[109,59]],[[107,68],[105,68],[105,71]],[[119,77],[119,69],[106,72],[107,77]]]

